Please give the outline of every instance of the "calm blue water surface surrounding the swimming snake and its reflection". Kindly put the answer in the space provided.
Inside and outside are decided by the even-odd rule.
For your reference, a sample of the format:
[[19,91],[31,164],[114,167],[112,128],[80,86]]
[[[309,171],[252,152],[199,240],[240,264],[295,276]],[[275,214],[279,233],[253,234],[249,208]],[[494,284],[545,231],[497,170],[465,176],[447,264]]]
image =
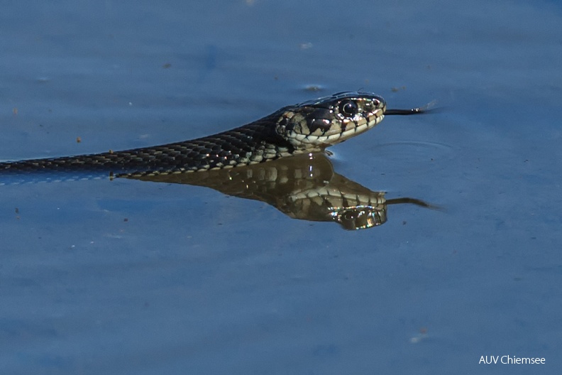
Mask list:
[[[439,111],[388,117],[334,168],[441,209],[346,232],[189,185],[0,186],[3,374],[559,373],[558,2],[4,3],[0,160],[363,89]],[[497,355],[546,364],[478,364]]]

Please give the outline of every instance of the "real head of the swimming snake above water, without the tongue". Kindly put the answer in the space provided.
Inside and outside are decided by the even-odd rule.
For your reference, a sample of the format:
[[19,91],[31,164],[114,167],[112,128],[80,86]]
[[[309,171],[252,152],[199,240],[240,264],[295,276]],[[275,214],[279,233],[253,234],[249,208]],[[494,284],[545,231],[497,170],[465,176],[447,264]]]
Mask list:
[[282,109],[275,131],[301,150],[321,150],[368,131],[384,117],[385,99],[340,92]]

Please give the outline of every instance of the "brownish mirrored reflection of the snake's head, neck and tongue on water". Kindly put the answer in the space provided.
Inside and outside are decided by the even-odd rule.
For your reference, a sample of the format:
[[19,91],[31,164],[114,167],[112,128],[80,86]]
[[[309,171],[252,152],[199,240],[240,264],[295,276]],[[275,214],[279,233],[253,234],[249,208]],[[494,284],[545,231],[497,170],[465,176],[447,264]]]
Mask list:
[[387,200],[385,192],[370,190],[334,172],[324,153],[199,173],[119,177],[204,186],[226,195],[268,203],[294,219],[337,222],[344,229],[384,224],[389,205],[412,203],[432,207],[409,197]]

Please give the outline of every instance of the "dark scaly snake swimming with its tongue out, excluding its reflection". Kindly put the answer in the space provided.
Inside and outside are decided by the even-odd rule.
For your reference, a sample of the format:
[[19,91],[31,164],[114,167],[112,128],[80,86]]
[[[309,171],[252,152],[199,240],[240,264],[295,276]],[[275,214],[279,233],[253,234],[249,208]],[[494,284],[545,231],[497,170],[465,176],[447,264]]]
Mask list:
[[211,136],[125,151],[2,162],[0,173],[109,170],[110,175],[151,175],[236,168],[321,152],[372,129],[385,115],[422,112],[426,107],[387,109],[385,99],[369,92],[338,92]]

